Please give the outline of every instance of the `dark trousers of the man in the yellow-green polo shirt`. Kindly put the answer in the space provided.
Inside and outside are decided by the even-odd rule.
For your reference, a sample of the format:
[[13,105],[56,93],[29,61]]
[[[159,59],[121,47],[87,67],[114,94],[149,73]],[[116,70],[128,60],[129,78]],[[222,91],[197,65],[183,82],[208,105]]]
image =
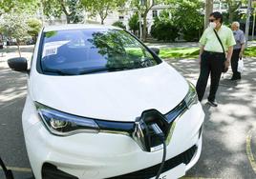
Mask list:
[[224,59],[224,53],[203,51],[201,56],[200,76],[196,87],[200,101],[203,99],[209,74],[211,74],[211,85],[208,100],[215,100],[215,95],[224,68]]

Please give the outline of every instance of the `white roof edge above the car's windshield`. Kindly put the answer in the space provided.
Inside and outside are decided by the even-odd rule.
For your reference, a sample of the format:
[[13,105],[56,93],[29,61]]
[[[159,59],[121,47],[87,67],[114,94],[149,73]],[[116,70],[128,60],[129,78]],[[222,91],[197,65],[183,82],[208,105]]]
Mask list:
[[95,24],[66,24],[58,26],[47,26],[44,27],[43,31],[54,31],[54,30],[81,30],[81,29],[99,29],[99,30],[122,30],[114,26],[95,25]]

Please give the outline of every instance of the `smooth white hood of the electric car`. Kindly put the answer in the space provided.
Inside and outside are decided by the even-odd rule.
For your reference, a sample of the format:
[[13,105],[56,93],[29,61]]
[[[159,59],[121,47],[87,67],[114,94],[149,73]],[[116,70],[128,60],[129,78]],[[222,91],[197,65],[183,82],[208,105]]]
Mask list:
[[135,121],[142,111],[162,114],[175,108],[188,91],[185,79],[171,66],[77,76],[31,76],[32,99],[78,116]]

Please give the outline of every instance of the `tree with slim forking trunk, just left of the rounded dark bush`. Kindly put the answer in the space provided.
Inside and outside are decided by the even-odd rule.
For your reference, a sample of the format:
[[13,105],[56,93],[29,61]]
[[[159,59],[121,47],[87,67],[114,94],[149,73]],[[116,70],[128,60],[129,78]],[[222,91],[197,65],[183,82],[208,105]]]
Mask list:
[[142,38],[143,41],[146,40],[147,37],[147,14],[149,10],[153,8],[153,6],[157,3],[157,0],[132,0],[132,7],[136,7],[138,12],[141,14],[143,18],[143,26],[142,26]]

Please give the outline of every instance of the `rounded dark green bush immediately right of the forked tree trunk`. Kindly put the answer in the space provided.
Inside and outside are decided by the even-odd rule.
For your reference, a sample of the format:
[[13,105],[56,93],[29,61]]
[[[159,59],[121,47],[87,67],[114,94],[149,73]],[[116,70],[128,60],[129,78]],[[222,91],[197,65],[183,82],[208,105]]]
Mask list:
[[179,36],[179,29],[175,22],[169,18],[168,11],[162,11],[159,17],[154,19],[154,25],[151,27],[151,35],[164,42],[172,41]]

